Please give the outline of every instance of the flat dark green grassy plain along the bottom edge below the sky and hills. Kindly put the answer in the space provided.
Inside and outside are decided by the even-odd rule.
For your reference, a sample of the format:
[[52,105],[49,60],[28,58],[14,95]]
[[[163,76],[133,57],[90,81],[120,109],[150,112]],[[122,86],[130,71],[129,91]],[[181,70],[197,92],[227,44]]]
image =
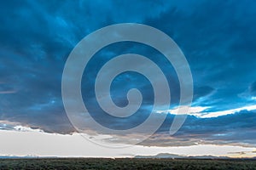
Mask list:
[[255,169],[256,160],[49,158],[0,159],[0,169]]

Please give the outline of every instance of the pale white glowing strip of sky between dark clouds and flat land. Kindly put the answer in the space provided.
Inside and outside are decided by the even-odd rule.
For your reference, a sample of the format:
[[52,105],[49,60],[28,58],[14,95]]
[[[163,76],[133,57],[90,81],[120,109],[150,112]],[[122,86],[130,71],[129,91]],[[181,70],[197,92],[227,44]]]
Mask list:
[[256,156],[256,148],[253,147],[217,144],[178,147],[134,145],[122,149],[112,149],[93,144],[79,133],[73,133],[73,135],[44,133],[22,126],[15,127],[15,129],[0,130],[0,156],[133,157],[154,156],[159,153],[180,156]]

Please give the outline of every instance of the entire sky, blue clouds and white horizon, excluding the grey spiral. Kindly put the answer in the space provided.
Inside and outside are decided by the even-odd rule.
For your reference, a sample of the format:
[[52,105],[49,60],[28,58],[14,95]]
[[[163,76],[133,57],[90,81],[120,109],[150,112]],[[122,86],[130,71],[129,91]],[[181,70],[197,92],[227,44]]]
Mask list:
[[[239,156],[256,156],[255,6],[253,0],[1,2],[0,155],[133,156],[172,152],[236,156],[229,154],[236,152],[242,153]],[[93,143],[80,138],[68,119],[61,97],[62,73],[69,54],[84,37],[120,23],[152,26],[172,37],[189,63],[193,101],[183,126],[171,136],[169,128],[180,99],[172,65],[148,45],[110,44],[84,69],[81,94],[90,116],[102,126],[118,130],[136,127],[151,112],[166,119],[133,149],[111,150],[95,144],[91,150]],[[165,73],[171,91],[169,109],[152,111],[152,85],[143,75],[130,71],[115,77],[111,97],[119,107],[125,106],[127,92],[137,88],[143,95],[141,108],[124,119],[102,111],[94,92],[96,74],[108,60],[131,53],[147,56]],[[84,135],[89,134],[106,143],[121,139],[119,144],[145,135],[105,133],[86,127]],[[42,140],[35,140],[37,136]],[[72,151],[74,146],[77,151]]]

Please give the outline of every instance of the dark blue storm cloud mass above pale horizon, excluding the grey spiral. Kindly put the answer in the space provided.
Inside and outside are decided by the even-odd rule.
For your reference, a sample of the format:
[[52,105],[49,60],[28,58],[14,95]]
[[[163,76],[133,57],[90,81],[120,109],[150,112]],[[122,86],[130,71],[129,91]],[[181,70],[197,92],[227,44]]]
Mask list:
[[[61,101],[61,74],[67,56],[90,32],[123,22],[154,26],[177,42],[193,74],[193,105],[207,106],[209,111],[255,105],[255,100],[241,97],[248,87],[252,96],[256,92],[254,7],[253,1],[2,2],[0,118],[42,128],[50,133],[73,132]],[[83,96],[87,96],[84,102],[88,102],[95,118],[108,127],[135,126],[143,122],[152,109],[154,95],[148,81],[140,75],[127,73],[114,80],[111,91],[113,101],[120,106],[127,105],[127,91],[139,88],[143,93],[142,109],[139,114],[121,122],[111,117],[102,119],[104,113],[98,108],[92,90],[96,72],[108,59],[127,53],[143,54],[160,65],[170,84],[172,105],[179,100],[177,75],[159,52],[137,43],[113,44],[91,60],[84,71],[82,83]],[[172,122],[170,117],[166,120],[169,123]],[[236,117],[242,118],[232,122]],[[242,140],[253,144],[254,139],[249,139],[253,138],[253,119],[253,113],[246,111],[210,119],[189,116],[177,133],[177,139],[183,136],[190,144],[190,134],[216,143],[220,140],[230,143]],[[160,128],[160,132],[165,132],[165,126]],[[247,133],[241,133],[246,128]]]

